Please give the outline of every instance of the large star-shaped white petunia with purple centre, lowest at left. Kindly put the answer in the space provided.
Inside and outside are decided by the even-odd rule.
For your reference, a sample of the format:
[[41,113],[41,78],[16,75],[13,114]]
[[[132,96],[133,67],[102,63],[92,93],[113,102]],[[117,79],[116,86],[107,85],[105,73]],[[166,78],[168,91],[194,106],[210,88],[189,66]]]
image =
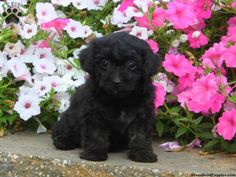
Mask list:
[[21,95],[14,106],[20,118],[27,121],[32,116],[40,114],[40,100],[37,95]]

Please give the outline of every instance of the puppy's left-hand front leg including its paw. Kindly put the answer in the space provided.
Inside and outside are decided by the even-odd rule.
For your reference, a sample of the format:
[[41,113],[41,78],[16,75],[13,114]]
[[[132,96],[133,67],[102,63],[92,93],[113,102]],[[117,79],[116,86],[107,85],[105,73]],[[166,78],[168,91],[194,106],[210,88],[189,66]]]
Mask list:
[[98,126],[89,125],[82,128],[81,159],[91,161],[104,161],[108,158],[107,149],[109,132]]

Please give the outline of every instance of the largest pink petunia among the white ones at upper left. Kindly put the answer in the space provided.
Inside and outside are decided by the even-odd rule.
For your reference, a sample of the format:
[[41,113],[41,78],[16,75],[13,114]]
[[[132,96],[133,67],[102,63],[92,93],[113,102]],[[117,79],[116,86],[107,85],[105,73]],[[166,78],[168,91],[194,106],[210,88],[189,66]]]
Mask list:
[[56,31],[61,34],[61,31],[64,27],[67,26],[67,24],[70,22],[67,18],[56,18],[54,20],[51,20],[49,22],[45,22],[41,24],[42,29],[49,29],[49,28],[55,28]]

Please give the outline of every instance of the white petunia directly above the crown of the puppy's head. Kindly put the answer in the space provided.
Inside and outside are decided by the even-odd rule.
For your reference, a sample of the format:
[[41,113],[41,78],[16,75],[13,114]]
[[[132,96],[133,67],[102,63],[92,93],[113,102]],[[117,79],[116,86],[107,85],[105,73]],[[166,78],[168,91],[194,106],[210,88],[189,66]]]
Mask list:
[[130,21],[130,17],[127,17],[125,15],[125,12],[122,13],[121,11],[118,10],[119,6],[114,9],[112,17],[111,17],[111,24],[117,25],[117,26],[122,26],[124,23],[127,23]]

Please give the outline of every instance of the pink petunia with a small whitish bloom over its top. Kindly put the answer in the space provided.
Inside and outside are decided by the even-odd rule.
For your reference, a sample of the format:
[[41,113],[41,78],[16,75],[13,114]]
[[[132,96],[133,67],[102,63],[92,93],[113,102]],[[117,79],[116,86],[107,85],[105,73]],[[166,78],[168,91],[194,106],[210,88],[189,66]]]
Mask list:
[[200,48],[208,43],[208,38],[201,31],[195,31],[188,34],[188,41],[190,47]]

